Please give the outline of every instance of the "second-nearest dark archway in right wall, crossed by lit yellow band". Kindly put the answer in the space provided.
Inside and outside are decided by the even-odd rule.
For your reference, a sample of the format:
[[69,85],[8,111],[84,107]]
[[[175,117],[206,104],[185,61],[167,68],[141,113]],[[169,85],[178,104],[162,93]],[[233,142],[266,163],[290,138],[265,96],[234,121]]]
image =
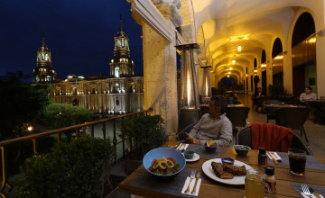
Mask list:
[[283,85],[283,44],[277,38],[272,49],[273,85]]

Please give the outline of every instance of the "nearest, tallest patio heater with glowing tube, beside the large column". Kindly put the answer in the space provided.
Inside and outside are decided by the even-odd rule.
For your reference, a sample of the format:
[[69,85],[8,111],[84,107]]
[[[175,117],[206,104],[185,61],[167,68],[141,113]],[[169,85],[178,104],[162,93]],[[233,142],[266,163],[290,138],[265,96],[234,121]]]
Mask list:
[[198,79],[194,63],[194,49],[197,43],[176,46],[181,50],[181,100],[179,105],[179,131],[199,120],[200,101]]

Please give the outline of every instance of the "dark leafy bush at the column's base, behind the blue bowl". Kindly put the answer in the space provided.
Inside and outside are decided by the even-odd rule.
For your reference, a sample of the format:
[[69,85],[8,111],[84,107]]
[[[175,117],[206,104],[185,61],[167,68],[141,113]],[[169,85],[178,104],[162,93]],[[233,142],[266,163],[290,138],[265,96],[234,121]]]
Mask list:
[[149,150],[159,147],[166,140],[166,135],[163,130],[163,118],[160,115],[137,115],[127,121],[124,121],[120,126],[121,133],[119,137],[128,142],[135,144],[135,152],[139,157],[144,157],[144,154]]

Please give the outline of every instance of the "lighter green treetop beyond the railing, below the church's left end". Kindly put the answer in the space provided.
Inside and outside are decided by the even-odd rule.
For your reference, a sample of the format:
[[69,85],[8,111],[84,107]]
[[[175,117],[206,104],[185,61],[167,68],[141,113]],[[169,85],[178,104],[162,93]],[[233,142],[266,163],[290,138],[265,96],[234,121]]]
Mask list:
[[84,107],[68,103],[51,103],[44,108],[40,120],[44,125],[58,129],[89,121],[91,115],[92,112]]

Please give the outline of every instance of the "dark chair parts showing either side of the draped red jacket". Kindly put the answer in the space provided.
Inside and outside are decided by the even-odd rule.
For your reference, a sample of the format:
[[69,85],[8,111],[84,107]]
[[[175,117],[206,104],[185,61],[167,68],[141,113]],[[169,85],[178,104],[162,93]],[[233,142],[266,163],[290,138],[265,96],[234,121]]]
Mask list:
[[[252,147],[252,132],[251,132],[251,127],[245,127],[242,130],[239,130],[237,133],[237,144],[239,145],[246,145],[248,147]],[[312,155],[311,150],[306,146],[306,144],[302,141],[302,139],[297,136],[296,134],[293,133],[292,137],[292,145],[291,148],[299,148],[304,151],[308,155]]]

